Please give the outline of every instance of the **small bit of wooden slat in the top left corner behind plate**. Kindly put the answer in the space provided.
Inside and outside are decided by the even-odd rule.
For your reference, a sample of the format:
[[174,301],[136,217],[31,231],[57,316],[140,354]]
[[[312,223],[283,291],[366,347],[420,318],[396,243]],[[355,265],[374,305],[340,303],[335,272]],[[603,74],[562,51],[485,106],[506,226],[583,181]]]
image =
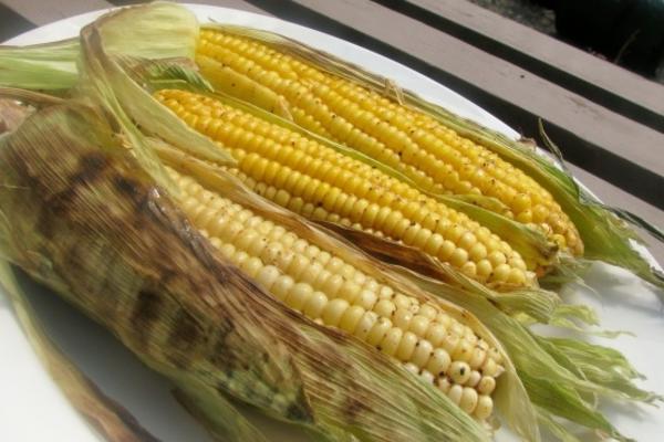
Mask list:
[[40,27],[83,12],[112,7],[105,0],[2,0],[2,2]]

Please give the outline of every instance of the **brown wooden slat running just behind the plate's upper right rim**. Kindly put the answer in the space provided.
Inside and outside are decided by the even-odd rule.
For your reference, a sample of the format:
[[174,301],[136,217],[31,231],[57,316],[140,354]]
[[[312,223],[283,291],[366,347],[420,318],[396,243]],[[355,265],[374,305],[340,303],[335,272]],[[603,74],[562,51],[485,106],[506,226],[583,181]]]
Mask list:
[[409,65],[528,136],[537,134],[541,116],[568,160],[664,208],[664,156],[655,150],[664,146],[664,134],[371,1],[255,3]]

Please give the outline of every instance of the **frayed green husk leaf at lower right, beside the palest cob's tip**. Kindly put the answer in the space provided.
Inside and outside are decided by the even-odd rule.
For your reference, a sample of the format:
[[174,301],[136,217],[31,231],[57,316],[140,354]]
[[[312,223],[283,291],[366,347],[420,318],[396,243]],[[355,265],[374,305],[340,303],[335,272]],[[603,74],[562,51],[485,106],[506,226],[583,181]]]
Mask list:
[[[598,349],[596,346],[571,339],[562,343],[548,339],[542,341],[544,338],[528,330],[518,319],[500,312],[475,293],[450,291],[440,282],[411,271],[402,272],[409,274],[423,288],[474,312],[504,344],[532,402],[554,415],[599,430],[618,440],[627,440],[595,410],[594,398],[603,396],[645,402],[660,399],[636,388],[630,378],[632,372],[618,377],[611,373],[614,367],[624,370],[625,360],[615,350],[606,352],[604,348]],[[564,347],[566,345],[574,351]],[[595,355],[601,355],[602,359],[593,364]],[[605,381],[609,379],[610,381]]]

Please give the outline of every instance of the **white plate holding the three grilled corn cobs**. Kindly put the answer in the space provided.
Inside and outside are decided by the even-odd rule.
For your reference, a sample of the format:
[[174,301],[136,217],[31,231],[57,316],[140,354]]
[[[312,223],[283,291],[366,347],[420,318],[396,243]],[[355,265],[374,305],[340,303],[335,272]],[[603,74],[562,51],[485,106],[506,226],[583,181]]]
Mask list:
[[[242,24],[274,31],[328,51],[347,61],[395,80],[425,98],[508,136],[518,134],[504,123],[450,90],[382,55],[334,36],[279,19],[226,8],[188,6],[201,22]],[[74,36],[80,28],[104,11],[61,20],[10,40],[33,44]],[[652,257],[652,256],[651,256]],[[664,392],[664,316],[652,287],[629,273],[595,265],[589,285],[601,295],[575,287],[567,292],[594,306],[602,324],[626,329],[637,338],[623,336],[596,339],[623,351],[647,376],[644,388]],[[165,442],[209,441],[205,431],[186,414],[169,394],[169,383],[141,365],[108,333],[75,312],[51,292],[25,281],[31,301],[49,334],[83,371],[110,397],[125,406],[153,434]],[[664,410],[645,406],[605,406],[612,423],[640,441],[664,434]],[[252,414],[274,441],[293,441],[279,428]],[[658,438],[660,436],[660,438]],[[500,431],[499,441],[513,438]],[[41,367],[22,334],[9,301],[0,293],[0,440],[12,442],[89,442],[101,438],[71,408]]]

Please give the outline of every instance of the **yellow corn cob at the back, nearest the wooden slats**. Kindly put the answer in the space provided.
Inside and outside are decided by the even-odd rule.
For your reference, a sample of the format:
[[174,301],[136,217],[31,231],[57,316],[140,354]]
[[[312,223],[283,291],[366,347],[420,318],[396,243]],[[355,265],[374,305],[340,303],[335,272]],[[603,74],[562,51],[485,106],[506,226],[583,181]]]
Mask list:
[[[217,30],[201,32],[196,59],[205,75],[215,76],[224,64],[286,99],[302,127],[406,172],[423,189],[494,197],[517,221],[539,227],[562,249],[582,254],[577,228],[546,189],[430,116],[258,41]],[[212,83],[252,101],[235,84]]]

